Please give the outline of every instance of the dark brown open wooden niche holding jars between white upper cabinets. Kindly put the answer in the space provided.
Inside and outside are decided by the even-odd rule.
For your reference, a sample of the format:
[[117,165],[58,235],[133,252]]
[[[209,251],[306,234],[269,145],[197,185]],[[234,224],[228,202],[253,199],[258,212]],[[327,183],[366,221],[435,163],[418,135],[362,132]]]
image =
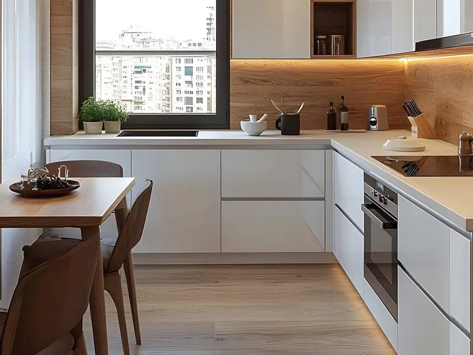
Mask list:
[[[345,56],[357,53],[356,0],[311,0],[310,54],[315,56],[316,36],[327,36],[327,54],[331,54],[331,35],[345,36]],[[317,56],[320,57],[320,56]],[[353,58],[353,57],[352,57]]]

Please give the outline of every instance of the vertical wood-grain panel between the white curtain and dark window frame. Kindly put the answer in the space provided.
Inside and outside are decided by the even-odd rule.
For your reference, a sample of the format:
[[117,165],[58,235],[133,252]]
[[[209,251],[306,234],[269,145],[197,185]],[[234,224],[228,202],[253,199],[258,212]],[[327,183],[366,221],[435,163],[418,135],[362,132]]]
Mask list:
[[50,2],[51,135],[78,129],[78,0]]

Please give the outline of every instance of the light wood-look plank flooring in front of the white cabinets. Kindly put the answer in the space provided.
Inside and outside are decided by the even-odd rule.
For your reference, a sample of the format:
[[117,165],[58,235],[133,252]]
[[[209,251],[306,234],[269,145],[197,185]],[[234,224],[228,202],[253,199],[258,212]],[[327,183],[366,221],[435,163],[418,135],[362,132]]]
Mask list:
[[[339,265],[135,266],[133,355],[395,355]],[[123,354],[107,295],[111,355]],[[94,354],[90,317],[84,319]]]

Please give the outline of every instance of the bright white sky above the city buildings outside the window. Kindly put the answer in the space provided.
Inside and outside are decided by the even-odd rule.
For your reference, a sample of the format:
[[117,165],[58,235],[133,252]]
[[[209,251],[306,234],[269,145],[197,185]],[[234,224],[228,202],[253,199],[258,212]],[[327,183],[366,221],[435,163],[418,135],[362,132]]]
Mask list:
[[118,39],[130,26],[154,37],[195,39],[206,36],[207,6],[217,0],[95,0],[95,40]]

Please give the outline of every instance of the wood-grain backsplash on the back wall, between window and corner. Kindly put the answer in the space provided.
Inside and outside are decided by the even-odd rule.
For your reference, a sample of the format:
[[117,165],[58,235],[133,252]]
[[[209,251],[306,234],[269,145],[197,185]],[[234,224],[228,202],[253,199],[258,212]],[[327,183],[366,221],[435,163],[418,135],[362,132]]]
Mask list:
[[230,65],[230,129],[250,113],[269,114],[268,129],[278,118],[270,99],[288,110],[305,102],[301,129],[325,129],[329,101],[345,95],[350,128],[364,129],[369,108],[386,105],[392,129],[409,129],[402,109],[404,63],[399,60],[232,60]]

